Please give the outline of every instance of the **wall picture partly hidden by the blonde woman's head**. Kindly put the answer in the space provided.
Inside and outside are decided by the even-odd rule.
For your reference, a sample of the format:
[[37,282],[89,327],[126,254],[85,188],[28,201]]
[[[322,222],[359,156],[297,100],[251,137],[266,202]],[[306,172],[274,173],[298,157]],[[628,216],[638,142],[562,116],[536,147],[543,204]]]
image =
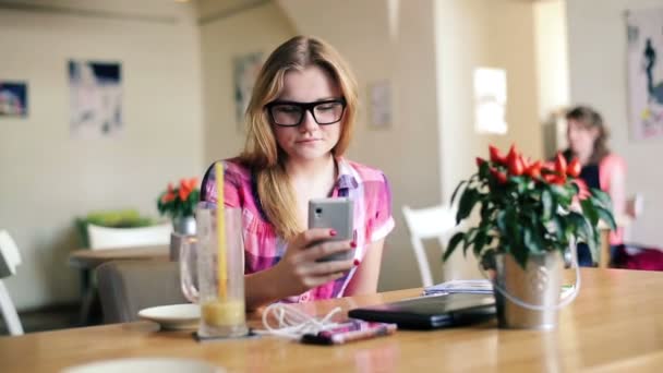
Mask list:
[[251,92],[262,65],[262,52],[248,53],[232,59],[236,120],[240,128],[243,128],[244,112],[249,106]]

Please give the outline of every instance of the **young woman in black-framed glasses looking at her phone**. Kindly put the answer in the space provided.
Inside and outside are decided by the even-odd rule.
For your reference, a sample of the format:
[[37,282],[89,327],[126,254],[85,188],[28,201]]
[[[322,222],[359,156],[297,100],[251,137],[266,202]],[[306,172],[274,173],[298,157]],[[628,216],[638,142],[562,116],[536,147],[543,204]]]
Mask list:
[[[225,204],[242,209],[246,308],[375,292],[385,237],[394,228],[379,170],[342,157],[357,113],[357,83],[328,44],[298,36],[263,65],[246,109],[243,153],[225,160]],[[214,168],[202,198],[216,202]],[[348,196],[354,239],[320,243],[306,229],[311,198]],[[316,262],[352,251],[349,261]]]

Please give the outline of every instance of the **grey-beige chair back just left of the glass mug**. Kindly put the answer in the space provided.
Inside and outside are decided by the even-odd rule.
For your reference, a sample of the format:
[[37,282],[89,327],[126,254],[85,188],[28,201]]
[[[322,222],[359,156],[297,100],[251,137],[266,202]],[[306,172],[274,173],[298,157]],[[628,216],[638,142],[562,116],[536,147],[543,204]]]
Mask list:
[[137,321],[138,311],[146,308],[189,303],[182,294],[178,262],[107,262],[96,275],[106,324]]

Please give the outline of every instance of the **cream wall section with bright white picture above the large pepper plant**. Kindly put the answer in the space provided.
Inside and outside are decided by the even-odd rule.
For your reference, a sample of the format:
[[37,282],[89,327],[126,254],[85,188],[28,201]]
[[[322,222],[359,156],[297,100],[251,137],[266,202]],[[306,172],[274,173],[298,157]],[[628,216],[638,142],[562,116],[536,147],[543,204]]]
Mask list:
[[[487,145],[506,152],[510,144],[533,158],[542,154],[538,119],[537,65],[532,4],[519,0],[448,0],[435,2],[437,105],[442,128],[442,195],[477,172],[474,157],[486,158]],[[506,70],[508,132],[474,131],[473,72],[481,67]],[[475,262],[459,251],[444,278],[474,277]]]

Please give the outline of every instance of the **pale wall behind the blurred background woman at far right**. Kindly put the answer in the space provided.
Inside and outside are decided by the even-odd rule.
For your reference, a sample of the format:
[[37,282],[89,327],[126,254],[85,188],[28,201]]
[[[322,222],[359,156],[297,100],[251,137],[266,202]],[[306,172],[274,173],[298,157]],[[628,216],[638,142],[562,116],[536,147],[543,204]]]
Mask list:
[[[642,192],[644,215],[631,227],[634,241],[661,246],[663,173],[655,164],[663,139],[634,141],[627,119],[625,10],[663,8],[662,0],[569,0],[570,97],[596,108],[612,132],[611,148],[628,164],[627,190]],[[659,62],[660,63],[660,62]],[[653,161],[653,164],[652,164]]]

